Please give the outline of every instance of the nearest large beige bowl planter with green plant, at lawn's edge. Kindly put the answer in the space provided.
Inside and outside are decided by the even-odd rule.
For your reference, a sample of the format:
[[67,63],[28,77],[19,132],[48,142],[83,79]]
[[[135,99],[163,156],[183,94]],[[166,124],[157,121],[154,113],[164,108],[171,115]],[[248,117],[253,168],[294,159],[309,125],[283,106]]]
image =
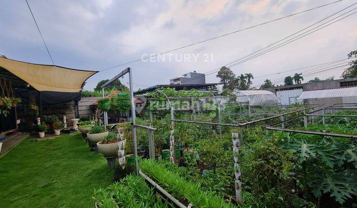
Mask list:
[[109,133],[102,141],[97,143],[97,148],[104,156],[117,156],[118,155],[118,138],[117,134]]

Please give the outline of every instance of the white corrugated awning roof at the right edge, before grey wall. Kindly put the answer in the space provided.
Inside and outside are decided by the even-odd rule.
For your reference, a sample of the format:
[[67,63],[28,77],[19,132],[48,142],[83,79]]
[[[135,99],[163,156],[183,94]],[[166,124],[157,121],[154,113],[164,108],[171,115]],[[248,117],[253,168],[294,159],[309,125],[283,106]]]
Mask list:
[[308,90],[302,92],[299,100],[316,99],[316,98],[340,98],[340,97],[357,97],[357,87],[341,87],[323,90]]

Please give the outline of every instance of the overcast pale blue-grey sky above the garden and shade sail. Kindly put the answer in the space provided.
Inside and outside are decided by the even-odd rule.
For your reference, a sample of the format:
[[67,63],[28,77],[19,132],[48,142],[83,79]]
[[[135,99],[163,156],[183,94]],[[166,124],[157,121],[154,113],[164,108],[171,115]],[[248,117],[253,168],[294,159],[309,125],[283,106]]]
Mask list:
[[[56,65],[101,70],[334,0],[28,1]],[[169,84],[171,78],[193,70],[205,73],[285,38],[355,2],[343,0],[184,48],[162,56],[160,60],[138,61],[106,70],[88,79],[84,88],[91,90],[99,80],[110,79],[126,67],[134,71],[136,90]],[[262,76],[253,80],[253,85],[260,85],[265,79],[279,79],[299,71],[263,75],[347,58],[350,51],[357,49],[356,20],[357,13],[231,69],[236,74]],[[26,62],[52,64],[25,0],[1,1],[0,28],[0,54]],[[184,59],[185,54],[190,55]],[[329,76],[340,78],[342,69],[316,76],[320,79]],[[216,74],[206,76],[206,82],[219,82]],[[308,81],[314,77],[304,78]],[[122,81],[126,84],[127,80],[124,78]]]

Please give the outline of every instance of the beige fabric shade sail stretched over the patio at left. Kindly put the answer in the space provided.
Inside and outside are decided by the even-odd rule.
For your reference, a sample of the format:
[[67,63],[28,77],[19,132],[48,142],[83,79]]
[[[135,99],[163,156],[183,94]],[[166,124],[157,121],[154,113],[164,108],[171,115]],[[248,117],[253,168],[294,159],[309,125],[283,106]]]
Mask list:
[[39,92],[78,93],[83,83],[97,71],[27,63],[0,57],[0,67],[30,84]]

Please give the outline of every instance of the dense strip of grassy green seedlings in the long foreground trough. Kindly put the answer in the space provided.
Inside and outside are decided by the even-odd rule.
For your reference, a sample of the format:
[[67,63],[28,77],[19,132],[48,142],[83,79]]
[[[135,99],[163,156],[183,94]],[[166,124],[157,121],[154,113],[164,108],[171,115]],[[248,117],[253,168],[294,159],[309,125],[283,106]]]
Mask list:
[[171,195],[179,200],[187,200],[195,207],[230,208],[231,202],[225,203],[224,199],[214,192],[202,191],[199,183],[192,183],[180,177],[177,173],[166,169],[152,159],[140,160],[141,170],[165,187]]

